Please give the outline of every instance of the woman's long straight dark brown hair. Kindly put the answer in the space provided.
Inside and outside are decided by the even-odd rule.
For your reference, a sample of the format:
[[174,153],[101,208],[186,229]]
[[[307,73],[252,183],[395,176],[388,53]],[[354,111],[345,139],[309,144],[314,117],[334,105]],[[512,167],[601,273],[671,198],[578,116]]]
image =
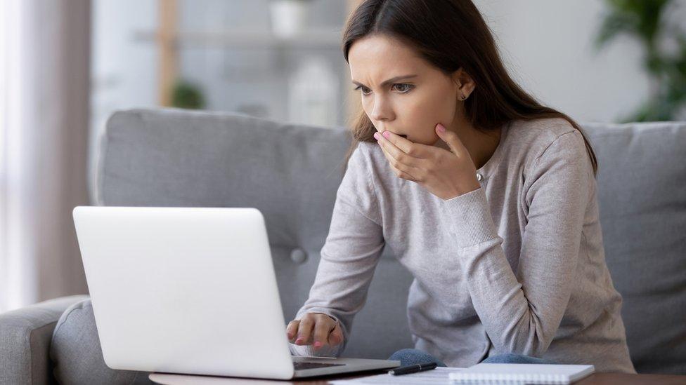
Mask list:
[[[462,67],[477,84],[465,100],[467,119],[481,132],[496,130],[516,119],[566,119],[583,136],[593,175],[597,175],[597,158],[581,127],[566,114],[540,104],[510,78],[491,29],[471,0],[363,0],[351,13],[343,32],[346,62],[352,44],[371,34],[387,34],[408,43],[446,75]],[[344,166],[358,142],[376,141],[375,132],[361,110]]]

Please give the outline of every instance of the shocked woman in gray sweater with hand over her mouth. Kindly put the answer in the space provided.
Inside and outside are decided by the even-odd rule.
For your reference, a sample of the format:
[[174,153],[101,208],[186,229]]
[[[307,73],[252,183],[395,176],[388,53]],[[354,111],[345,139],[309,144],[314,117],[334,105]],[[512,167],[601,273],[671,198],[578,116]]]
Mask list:
[[635,373],[593,149],[510,79],[474,4],[363,1],[343,50],[363,112],[292,353],[342,353],[387,244],[415,277],[415,346],[389,359]]

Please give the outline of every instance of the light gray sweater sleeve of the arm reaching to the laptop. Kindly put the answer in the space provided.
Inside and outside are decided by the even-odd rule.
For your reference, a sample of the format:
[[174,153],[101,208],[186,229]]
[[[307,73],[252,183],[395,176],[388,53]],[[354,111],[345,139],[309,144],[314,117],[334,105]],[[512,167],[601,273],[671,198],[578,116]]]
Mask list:
[[326,241],[309,297],[297,312],[325,313],[337,320],[344,341],[325,344],[289,344],[295,356],[338,357],[347,345],[355,314],[366,301],[367,291],[384,248],[375,191],[370,169],[365,164],[364,143],[351,154],[347,170],[338,187]]

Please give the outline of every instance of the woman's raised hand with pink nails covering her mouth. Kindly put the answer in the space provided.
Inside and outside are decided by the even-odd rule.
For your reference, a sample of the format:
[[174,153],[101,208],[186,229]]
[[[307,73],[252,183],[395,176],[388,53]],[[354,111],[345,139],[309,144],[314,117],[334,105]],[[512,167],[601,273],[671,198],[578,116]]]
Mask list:
[[439,123],[434,130],[451,151],[410,142],[388,130],[384,131],[387,137],[380,133],[375,133],[374,137],[396,175],[421,184],[430,193],[446,201],[479,189],[481,184],[477,180],[472,156],[460,137],[450,130],[441,132],[440,128],[444,127]]

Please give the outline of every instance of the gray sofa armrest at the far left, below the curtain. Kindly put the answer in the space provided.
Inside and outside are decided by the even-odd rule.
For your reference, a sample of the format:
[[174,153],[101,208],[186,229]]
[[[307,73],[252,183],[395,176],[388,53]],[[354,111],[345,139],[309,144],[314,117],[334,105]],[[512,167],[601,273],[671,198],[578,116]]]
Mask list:
[[0,314],[0,384],[53,384],[50,343],[67,307],[88,298],[70,295]]

